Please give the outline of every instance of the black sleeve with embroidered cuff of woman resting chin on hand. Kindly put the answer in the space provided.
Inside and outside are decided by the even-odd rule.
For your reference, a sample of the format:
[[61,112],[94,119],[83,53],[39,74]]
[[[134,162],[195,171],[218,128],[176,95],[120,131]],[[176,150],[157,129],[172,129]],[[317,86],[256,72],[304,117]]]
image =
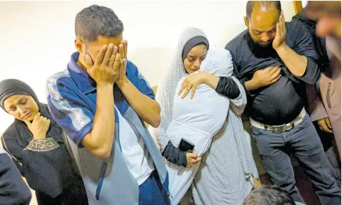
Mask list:
[[4,149],[14,159],[31,189],[52,198],[61,194],[64,184],[68,183],[66,179],[71,179],[74,174],[64,144],[49,137],[46,140],[32,139],[26,147],[21,147],[16,139],[13,132],[5,132]]

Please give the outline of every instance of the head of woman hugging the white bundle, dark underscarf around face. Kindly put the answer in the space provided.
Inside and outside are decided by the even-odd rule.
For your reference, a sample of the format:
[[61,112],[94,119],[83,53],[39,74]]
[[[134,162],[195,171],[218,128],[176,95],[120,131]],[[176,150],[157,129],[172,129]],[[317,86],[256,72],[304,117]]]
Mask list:
[[185,43],[181,57],[186,73],[193,73],[200,68],[208,48],[209,43],[204,36],[195,36]]

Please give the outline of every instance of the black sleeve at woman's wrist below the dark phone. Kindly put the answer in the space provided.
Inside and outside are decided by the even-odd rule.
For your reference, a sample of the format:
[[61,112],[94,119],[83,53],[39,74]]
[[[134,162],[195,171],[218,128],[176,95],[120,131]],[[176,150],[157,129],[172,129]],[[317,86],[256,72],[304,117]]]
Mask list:
[[186,167],[186,152],[181,151],[178,147],[174,147],[171,141],[166,145],[164,152],[161,155],[173,164]]

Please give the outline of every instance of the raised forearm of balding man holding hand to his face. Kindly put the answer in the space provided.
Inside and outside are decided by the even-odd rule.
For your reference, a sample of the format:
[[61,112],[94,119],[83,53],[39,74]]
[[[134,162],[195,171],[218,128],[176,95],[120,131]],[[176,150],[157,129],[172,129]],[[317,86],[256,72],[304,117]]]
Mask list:
[[308,59],[305,56],[298,55],[287,45],[277,48],[276,52],[293,75],[298,77],[304,75],[308,64]]

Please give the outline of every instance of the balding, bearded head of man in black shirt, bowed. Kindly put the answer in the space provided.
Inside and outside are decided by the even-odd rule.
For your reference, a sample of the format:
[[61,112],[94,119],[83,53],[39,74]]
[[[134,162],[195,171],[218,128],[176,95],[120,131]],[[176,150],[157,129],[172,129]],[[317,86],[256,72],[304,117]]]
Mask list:
[[280,15],[280,1],[248,1],[244,21],[256,45],[263,48],[272,47]]

